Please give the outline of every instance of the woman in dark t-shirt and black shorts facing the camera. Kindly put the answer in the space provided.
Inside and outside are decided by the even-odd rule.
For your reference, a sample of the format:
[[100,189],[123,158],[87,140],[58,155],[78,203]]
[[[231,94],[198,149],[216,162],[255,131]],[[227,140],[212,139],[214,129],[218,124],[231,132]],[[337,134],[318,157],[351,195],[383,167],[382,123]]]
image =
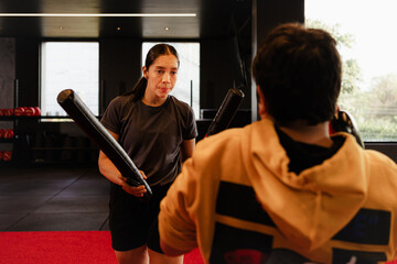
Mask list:
[[101,119],[153,193],[149,201],[142,201],[144,186],[129,186],[110,160],[99,153],[99,170],[112,183],[109,227],[120,264],[149,263],[149,258],[151,264],[183,262],[183,256],[162,254],[159,239],[149,235],[155,233],[160,200],[179,174],[181,163],[192,155],[197,135],[193,110],[169,95],[179,65],[173,46],[154,45],[142,67],[143,77],[130,92],[115,98]]

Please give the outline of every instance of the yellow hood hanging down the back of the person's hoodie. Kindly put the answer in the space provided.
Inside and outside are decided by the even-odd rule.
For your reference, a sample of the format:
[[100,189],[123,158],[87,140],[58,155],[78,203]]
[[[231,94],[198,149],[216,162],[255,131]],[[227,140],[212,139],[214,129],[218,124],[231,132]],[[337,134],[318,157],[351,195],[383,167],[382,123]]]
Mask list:
[[[273,123],[248,125],[243,144],[247,177],[259,202],[292,243],[311,251],[335,235],[366,199],[368,167],[353,135],[331,158],[299,174],[289,172],[289,157]],[[264,147],[267,146],[267,147]]]

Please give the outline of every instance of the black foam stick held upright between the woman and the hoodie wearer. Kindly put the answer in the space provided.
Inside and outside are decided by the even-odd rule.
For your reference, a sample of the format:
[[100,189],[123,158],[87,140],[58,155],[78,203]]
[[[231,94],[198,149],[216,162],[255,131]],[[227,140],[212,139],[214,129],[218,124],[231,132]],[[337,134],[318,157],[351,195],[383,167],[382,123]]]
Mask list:
[[226,97],[216,112],[215,118],[211,122],[205,136],[216,134],[228,128],[243,101],[243,98],[244,92],[237,88],[232,88],[227,91]]

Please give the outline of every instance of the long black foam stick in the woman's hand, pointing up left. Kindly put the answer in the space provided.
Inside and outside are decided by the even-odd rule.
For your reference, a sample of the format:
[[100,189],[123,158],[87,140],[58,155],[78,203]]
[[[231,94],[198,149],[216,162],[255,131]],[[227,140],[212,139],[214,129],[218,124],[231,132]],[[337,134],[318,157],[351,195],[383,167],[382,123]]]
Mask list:
[[93,112],[89,111],[77,94],[72,89],[63,90],[57,96],[57,102],[109,157],[121,175],[127,178],[127,184],[135,187],[143,185],[147,189],[147,193],[143,194],[143,199],[150,198],[152,190],[139,173],[137,166],[109,131],[107,131]]

